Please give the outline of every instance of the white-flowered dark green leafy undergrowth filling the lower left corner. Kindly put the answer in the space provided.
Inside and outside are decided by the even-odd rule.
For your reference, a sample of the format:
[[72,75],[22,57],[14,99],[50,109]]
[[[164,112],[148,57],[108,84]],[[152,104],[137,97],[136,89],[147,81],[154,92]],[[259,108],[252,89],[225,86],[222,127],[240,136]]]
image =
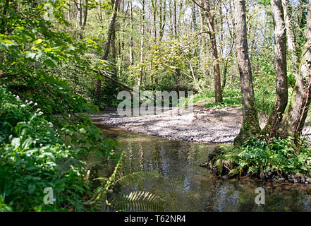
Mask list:
[[[0,86],[0,196],[1,210],[85,210],[84,198],[90,196],[90,182],[87,181],[81,154],[87,150],[98,150],[99,129],[76,126],[80,137],[93,133],[97,145],[77,148],[66,144],[61,137],[71,134],[76,144],[79,136],[65,127],[57,128],[48,121],[36,102],[23,101]],[[85,119],[87,120],[87,119]],[[89,143],[94,139],[86,137]],[[83,138],[81,137],[81,140]],[[99,151],[102,157],[116,160],[119,155],[112,149],[114,142],[104,141]],[[92,148],[91,148],[92,147]],[[44,188],[52,187],[56,202],[45,206]]]

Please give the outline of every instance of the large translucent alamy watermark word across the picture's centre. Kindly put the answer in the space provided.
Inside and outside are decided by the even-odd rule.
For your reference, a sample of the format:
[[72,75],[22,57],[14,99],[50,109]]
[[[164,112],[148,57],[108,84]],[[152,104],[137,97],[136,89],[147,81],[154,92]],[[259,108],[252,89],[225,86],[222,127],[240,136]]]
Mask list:
[[[185,97],[185,94],[187,94],[187,97]],[[135,86],[132,93],[121,91],[118,93],[117,98],[122,100],[117,109],[120,116],[161,114],[170,109],[176,109],[176,111],[170,112],[170,114],[176,116],[193,114],[193,91],[187,93],[185,91],[179,91],[178,93],[176,91],[155,91],[153,93],[150,90],[145,90],[139,93],[138,87]],[[141,105],[140,100],[143,100]]]

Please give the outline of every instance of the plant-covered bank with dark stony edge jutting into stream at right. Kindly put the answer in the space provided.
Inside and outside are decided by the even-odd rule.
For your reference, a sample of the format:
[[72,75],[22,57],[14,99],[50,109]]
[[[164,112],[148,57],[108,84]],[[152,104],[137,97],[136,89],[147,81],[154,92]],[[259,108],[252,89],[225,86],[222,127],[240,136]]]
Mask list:
[[209,167],[219,175],[252,174],[262,179],[288,179],[290,175],[311,175],[311,150],[293,138],[250,137],[240,147],[223,148],[209,157]]

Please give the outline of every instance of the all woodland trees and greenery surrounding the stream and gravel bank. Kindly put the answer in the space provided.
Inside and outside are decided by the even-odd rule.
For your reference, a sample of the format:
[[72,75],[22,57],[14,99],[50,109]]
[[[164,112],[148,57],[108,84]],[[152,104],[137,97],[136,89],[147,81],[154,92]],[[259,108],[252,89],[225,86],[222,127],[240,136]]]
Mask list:
[[[0,0],[0,62],[0,211],[103,210],[140,177],[122,174],[118,142],[90,119],[134,85],[242,109],[233,145],[209,155],[219,176],[311,182],[308,0]],[[100,186],[92,152],[112,166]],[[119,199],[164,206],[147,192]]]

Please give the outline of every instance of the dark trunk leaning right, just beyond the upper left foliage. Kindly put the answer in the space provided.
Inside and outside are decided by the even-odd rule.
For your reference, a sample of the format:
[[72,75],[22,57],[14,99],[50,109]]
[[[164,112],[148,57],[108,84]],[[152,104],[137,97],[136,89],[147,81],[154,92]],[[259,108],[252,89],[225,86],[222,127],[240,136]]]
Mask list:
[[[119,0],[114,1],[114,13],[111,17],[111,21],[110,21],[110,25],[109,25],[108,37],[107,37],[106,45],[105,45],[105,49],[104,49],[104,57],[103,57],[104,60],[106,60],[108,58],[109,47],[110,47],[110,43],[111,43],[111,37],[113,35],[113,31],[114,31],[115,25],[116,25],[116,13],[118,11],[118,1]],[[102,85],[102,81],[97,78],[96,83],[95,83],[95,103],[98,107],[100,107],[100,102],[101,102],[101,100],[100,100],[101,99],[101,85]]]

